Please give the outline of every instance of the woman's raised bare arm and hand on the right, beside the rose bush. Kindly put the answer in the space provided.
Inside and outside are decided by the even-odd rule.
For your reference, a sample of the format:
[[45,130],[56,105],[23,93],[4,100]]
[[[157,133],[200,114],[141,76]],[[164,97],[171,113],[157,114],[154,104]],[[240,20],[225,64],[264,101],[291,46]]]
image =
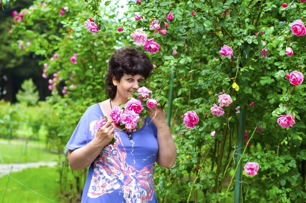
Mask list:
[[165,111],[158,107],[149,109],[148,114],[157,128],[158,154],[156,163],[161,167],[171,168],[176,159],[176,147],[166,122]]

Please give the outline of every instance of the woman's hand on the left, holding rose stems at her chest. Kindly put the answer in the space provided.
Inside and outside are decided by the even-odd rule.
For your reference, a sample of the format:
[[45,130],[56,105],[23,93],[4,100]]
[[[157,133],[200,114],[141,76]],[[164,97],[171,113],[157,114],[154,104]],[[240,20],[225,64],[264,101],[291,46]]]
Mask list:
[[109,120],[96,132],[96,136],[93,139],[95,145],[101,145],[104,147],[112,141],[115,132],[113,123],[113,120]]

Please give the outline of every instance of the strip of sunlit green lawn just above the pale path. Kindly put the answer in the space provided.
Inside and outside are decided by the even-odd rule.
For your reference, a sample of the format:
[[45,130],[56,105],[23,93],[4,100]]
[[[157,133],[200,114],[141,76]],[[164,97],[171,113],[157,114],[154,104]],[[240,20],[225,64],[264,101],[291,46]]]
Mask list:
[[11,140],[9,143],[8,139],[0,139],[0,164],[52,162],[58,159],[58,154],[45,151],[45,145],[37,141]]

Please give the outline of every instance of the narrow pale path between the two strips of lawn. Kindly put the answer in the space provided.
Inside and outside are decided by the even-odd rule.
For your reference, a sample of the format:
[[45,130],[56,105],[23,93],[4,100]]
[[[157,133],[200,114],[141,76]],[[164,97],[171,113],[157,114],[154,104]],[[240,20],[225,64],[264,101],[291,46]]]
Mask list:
[[26,168],[38,168],[40,166],[55,167],[57,162],[36,162],[36,163],[23,163],[23,164],[0,164],[0,177],[12,172],[22,171]]

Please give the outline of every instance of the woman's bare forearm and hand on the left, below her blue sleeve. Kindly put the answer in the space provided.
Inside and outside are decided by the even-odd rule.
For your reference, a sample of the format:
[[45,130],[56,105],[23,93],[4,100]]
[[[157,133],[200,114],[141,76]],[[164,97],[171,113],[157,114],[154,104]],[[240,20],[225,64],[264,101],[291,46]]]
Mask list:
[[99,155],[102,149],[111,142],[114,137],[115,128],[113,121],[108,121],[97,132],[95,138],[86,146],[69,150],[68,161],[73,170],[82,170],[87,168]]

